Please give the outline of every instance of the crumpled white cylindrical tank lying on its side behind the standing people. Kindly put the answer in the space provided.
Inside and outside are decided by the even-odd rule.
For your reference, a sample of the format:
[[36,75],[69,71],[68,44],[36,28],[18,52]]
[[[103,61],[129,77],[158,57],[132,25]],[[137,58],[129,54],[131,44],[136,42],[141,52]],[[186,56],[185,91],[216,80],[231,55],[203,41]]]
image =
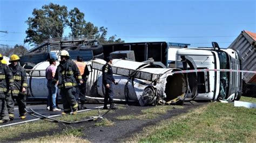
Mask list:
[[[104,98],[102,67],[105,63],[106,61],[101,59],[87,62],[90,71],[86,84],[88,98]],[[45,69],[48,66],[49,62],[41,62],[30,71],[29,98],[48,96],[45,78]],[[112,70],[114,78],[119,83],[113,86],[114,98],[119,101],[139,102],[142,106],[177,103],[183,101],[187,91],[184,75],[172,73],[180,69],[159,68],[152,63],[114,59]]]

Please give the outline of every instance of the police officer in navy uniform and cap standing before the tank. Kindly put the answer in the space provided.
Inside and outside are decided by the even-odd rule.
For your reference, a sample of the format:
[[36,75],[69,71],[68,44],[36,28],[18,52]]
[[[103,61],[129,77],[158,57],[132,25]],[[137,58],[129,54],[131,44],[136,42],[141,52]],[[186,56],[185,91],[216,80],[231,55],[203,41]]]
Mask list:
[[110,102],[110,109],[117,109],[117,107],[114,105],[113,102],[113,88],[112,88],[112,82],[114,84],[118,84],[116,81],[114,81],[113,77],[113,71],[111,68],[112,64],[112,57],[108,56],[106,58],[106,64],[102,67],[102,73],[103,73],[103,84],[105,87],[105,98],[104,98],[104,107],[103,109],[107,109],[107,102]]

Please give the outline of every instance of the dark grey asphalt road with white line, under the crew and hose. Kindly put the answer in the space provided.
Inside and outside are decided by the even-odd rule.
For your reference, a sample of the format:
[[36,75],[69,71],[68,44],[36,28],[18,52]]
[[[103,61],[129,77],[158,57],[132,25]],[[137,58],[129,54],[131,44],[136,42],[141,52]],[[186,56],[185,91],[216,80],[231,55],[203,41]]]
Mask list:
[[[100,120],[78,123],[78,124],[58,124],[58,123],[49,123],[49,124],[57,124],[58,127],[49,131],[42,132],[30,132],[24,133],[19,137],[11,138],[6,141],[21,141],[28,140],[31,138],[44,137],[49,134],[57,134],[67,129],[78,128],[82,132],[82,138],[89,140],[90,142],[124,142],[127,138],[132,137],[134,134],[143,131],[143,128],[146,126],[156,125],[163,120],[176,118],[177,115],[181,113],[190,112],[192,109],[198,108],[201,105],[207,103],[197,103],[193,102],[193,104],[186,102],[183,106],[184,108],[172,108],[172,110],[168,111],[165,115],[158,116],[153,119],[129,119],[129,120],[119,120],[116,117],[118,116],[127,116],[127,115],[140,115],[142,110],[152,108],[153,106],[137,106],[137,105],[122,105],[123,108],[117,109],[114,112],[107,113],[104,118],[111,120],[114,125],[113,126],[96,126],[95,123]],[[86,107],[90,110],[90,108],[96,108],[98,106],[102,106],[103,104],[86,104]],[[117,105],[120,106],[120,105]],[[17,107],[16,107],[17,108]],[[28,108],[33,108],[35,111],[42,113],[46,116],[58,116],[61,112],[52,112],[46,110],[46,105],[28,105]],[[34,117],[28,115],[25,120],[21,120],[18,118],[18,110],[15,110],[16,117],[15,120],[10,121],[10,123],[5,123],[5,125],[16,124],[21,121],[29,121],[35,120]],[[2,124],[3,125],[3,124]]]

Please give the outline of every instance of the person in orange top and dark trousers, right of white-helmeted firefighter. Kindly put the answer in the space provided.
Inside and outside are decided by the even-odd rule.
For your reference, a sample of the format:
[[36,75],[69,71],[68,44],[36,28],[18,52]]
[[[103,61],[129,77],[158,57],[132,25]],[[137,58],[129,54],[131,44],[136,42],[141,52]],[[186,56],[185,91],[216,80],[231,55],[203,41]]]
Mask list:
[[[84,106],[86,98],[85,98],[85,94],[86,94],[86,81],[87,81],[87,76],[90,74],[89,70],[86,66],[86,63],[83,62],[83,58],[82,56],[77,56],[77,61],[75,61],[80,74],[82,75],[82,79],[83,79],[83,84],[78,84],[77,86],[77,92],[76,92],[76,100],[78,105],[78,110],[82,110],[82,109],[86,109],[86,107]],[[79,81],[78,81],[79,82]]]

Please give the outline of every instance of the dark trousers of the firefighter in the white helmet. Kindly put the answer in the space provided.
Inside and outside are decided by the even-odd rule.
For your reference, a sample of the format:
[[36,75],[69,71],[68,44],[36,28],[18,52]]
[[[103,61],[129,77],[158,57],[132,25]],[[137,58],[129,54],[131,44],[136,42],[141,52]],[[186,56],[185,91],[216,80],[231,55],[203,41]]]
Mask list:
[[78,107],[75,94],[75,87],[60,89],[60,95],[62,96],[63,108],[65,113],[70,113],[71,108],[73,110],[76,110],[76,108]]

